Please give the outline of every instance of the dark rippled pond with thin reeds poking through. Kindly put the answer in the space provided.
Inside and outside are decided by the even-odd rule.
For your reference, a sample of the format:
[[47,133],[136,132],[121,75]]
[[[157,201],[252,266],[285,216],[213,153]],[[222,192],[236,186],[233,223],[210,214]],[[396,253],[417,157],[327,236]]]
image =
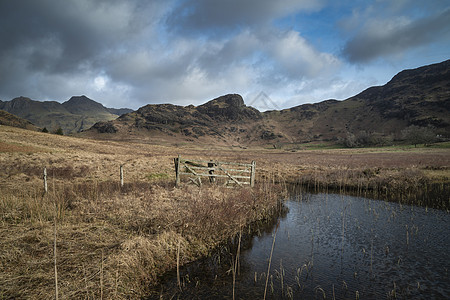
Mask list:
[[181,291],[173,271],[149,298],[450,299],[447,211],[338,194],[284,205],[268,228],[182,268]]

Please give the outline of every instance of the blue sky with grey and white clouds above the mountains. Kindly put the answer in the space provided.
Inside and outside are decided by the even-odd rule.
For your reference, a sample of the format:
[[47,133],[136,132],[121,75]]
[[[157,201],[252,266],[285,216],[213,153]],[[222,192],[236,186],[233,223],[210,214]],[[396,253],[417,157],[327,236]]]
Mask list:
[[260,110],[450,59],[449,0],[0,0],[0,100]]

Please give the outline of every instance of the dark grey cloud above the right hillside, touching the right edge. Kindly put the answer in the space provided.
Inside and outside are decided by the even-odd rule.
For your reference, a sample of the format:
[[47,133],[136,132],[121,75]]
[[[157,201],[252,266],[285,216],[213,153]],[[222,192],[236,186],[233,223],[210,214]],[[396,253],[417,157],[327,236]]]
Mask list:
[[351,62],[364,63],[382,56],[406,52],[409,48],[450,39],[450,9],[409,21],[404,18],[377,20],[366,26],[344,49]]

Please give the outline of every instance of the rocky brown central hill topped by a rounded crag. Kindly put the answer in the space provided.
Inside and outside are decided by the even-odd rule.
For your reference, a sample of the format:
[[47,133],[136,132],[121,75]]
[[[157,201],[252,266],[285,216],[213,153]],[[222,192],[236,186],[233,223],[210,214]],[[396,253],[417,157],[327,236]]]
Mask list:
[[[240,95],[229,94],[200,106],[149,104],[117,120],[99,122],[83,134],[107,139],[246,143],[263,134],[263,115],[246,106]],[[100,135],[99,135],[100,134]],[[105,135],[108,134],[108,135]]]

